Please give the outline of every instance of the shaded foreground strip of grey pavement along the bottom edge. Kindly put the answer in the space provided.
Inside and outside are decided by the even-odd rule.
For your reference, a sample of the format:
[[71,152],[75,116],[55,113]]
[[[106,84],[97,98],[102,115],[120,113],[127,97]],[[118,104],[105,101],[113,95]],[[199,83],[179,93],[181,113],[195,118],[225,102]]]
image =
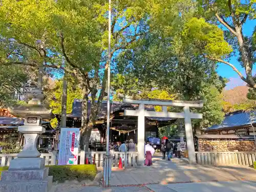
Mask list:
[[252,192],[256,191],[256,182],[220,181],[177,184],[151,184],[139,186],[118,186],[102,188],[99,186],[58,185],[55,192]]

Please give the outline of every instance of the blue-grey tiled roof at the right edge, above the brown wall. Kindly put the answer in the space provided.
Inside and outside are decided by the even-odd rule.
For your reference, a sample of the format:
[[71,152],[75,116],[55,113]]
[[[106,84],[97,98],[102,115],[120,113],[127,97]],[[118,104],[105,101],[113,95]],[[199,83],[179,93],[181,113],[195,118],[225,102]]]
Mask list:
[[225,115],[225,119],[221,124],[212,125],[205,129],[205,132],[215,131],[215,130],[226,130],[232,129],[233,127],[243,127],[248,126],[250,124],[256,123],[256,112],[245,112],[245,111],[237,111],[228,113]]

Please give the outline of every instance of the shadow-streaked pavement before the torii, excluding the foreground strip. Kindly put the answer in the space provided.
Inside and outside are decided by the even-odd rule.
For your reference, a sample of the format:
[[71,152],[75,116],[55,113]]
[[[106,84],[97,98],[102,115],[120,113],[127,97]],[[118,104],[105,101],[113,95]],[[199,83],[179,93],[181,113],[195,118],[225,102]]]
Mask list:
[[256,171],[245,166],[202,166],[189,165],[187,159],[172,161],[153,158],[153,166],[113,169],[113,186],[138,184],[166,184],[206,181],[255,180]]

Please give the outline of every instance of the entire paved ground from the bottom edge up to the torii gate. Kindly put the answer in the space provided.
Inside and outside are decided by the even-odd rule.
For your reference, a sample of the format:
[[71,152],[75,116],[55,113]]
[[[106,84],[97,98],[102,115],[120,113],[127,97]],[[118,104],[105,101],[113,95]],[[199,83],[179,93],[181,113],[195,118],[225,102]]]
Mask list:
[[112,170],[112,187],[58,184],[54,192],[249,192],[256,191],[256,170],[245,166],[189,165],[185,158],[153,158],[153,166]]

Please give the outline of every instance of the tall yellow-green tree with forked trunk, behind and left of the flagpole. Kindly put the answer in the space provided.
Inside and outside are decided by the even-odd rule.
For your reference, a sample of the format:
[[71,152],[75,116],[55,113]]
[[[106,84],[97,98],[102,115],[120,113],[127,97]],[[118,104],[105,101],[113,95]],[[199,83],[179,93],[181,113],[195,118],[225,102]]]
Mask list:
[[[111,56],[129,49],[146,32],[145,22],[142,22],[146,18],[145,2],[125,0],[113,5]],[[106,69],[110,65],[106,59],[107,11],[108,2],[101,0],[5,0],[0,7],[1,34],[20,48],[18,54],[16,50],[11,52],[11,58],[1,55],[1,65],[43,65],[64,69],[79,80],[83,95],[82,144],[89,142],[101,102],[106,96]],[[29,54],[24,55],[23,49],[29,49]],[[65,65],[62,58],[66,59]],[[88,118],[89,94],[91,114]]]

